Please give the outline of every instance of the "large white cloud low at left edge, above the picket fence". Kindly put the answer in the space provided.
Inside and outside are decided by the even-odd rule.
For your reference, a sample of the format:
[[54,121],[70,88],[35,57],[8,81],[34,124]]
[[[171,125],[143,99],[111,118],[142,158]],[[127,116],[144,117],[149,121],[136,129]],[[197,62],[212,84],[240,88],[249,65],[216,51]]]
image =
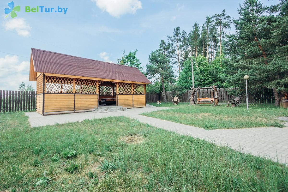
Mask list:
[[32,84],[35,89],[36,82],[29,81],[29,65],[29,61],[19,62],[15,55],[0,57],[0,90],[18,90],[22,81],[26,86]]

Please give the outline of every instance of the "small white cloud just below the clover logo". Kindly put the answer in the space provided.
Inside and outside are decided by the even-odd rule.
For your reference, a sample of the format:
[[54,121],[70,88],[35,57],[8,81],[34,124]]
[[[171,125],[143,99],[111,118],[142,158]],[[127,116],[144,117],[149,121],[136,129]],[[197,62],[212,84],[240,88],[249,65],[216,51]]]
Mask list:
[[14,18],[5,20],[4,26],[6,30],[16,31],[18,35],[28,37],[30,36],[31,27],[24,18]]

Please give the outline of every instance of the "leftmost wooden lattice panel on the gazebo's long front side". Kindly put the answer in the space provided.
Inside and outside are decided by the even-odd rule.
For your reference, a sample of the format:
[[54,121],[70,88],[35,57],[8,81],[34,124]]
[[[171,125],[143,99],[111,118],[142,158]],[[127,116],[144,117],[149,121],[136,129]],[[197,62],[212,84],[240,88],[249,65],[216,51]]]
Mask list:
[[46,76],[46,93],[73,93],[73,79],[67,77]]

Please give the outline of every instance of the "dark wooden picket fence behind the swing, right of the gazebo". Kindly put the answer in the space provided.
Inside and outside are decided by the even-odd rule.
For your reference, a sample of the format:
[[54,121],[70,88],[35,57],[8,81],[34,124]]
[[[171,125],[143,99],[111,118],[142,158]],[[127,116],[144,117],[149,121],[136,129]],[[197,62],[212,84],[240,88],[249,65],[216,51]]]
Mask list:
[[[219,96],[219,102],[226,103],[228,100],[232,100],[233,97],[229,93],[231,90],[238,90],[238,88],[218,88],[218,96]],[[211,97],[211,89],[202,89],[198,90],[199,98],[204,97]],[[171,96],[175,96],[176,93],[171,91],[166,91],[166,98],[167,101],[172,101]],[[186,90],[181,96],[179,97],[180,102],[190,102],[190,95],[192,93],[192,90]],[[214,97],[214,93],[213,97]],[[163,102],[163,94],[161,93],[146,93],[146,102],[147,103],[153,103],[157,102],[157,100]],[[197,102],[197,94],[194,97],[195,102]],[[248,100],[251,103],[274,103],[274,94],[272,89],[264,89],[264,90],[253,90],[253,92],[248,93]],[[242,102],[246,102],[246,97],[242,98]]]

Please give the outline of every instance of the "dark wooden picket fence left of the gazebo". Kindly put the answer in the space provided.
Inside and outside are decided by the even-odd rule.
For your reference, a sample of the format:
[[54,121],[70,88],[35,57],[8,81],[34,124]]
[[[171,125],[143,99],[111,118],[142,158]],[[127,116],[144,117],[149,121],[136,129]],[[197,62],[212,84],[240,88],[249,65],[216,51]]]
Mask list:
[[35,91],[0,90],[0,113],[14,111],[34,111],[35,107]]

